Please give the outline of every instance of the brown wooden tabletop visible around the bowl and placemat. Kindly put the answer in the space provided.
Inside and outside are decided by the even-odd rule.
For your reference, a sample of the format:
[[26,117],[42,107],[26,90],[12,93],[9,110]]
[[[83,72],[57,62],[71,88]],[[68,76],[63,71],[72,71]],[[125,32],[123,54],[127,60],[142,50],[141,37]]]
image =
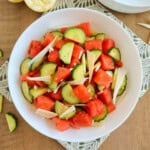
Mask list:
[[[111,11],[111,10],[110,10]],[[149,31],[137,26],[137,22],[150,23],[150,12],[140,14],[122,14],[111,11],[145,42]],[[2,64],[9,58],[11,50],[25,28],[41,14],[28,9],[24,3],[11,4],[0,0],[0,48],[4,57]],[[0,114],[0,150],[63,150],[55,140],[47,138],[31,128],[19,115],[13,104],[4,101]],[[18,118],[18,127],[9,133],[4,114],[14,113]],[[150,90],[140,99],[132,115],[101,146],[101,150],[149,150],[150,143]]]

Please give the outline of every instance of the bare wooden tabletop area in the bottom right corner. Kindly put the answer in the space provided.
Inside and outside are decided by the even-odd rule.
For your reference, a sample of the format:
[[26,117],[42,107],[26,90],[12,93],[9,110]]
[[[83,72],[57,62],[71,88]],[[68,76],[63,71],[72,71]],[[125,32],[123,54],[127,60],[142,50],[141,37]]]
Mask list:
[[150,91],[142,97],[127,121],[113,132],[100,150],[149,150]]

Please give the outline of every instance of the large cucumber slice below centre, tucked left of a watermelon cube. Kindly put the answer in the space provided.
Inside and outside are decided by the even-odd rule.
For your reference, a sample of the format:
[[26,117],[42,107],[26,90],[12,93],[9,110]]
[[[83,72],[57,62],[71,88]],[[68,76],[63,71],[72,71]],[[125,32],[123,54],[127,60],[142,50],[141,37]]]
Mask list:
[[70,84],[65,84],[62,87],[61,95],[64,101],[69,104],[78,104],[80,102],[77,96],[74,94]]

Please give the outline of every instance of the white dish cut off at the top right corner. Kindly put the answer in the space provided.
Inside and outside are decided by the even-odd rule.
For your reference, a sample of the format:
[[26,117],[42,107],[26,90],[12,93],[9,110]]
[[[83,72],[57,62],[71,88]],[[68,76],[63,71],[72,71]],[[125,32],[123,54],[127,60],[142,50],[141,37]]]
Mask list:
[[150,11],[150,0],[99,0],[108,8],[122,13]]

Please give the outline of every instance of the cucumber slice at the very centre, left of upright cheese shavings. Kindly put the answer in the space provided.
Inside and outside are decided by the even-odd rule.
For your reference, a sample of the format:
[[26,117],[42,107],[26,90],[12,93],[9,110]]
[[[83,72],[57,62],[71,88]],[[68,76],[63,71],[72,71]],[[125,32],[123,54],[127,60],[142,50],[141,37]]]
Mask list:
[[85,76],[85,68],[83,64],[77,64],[72,70],[73,80],[82,80]]

